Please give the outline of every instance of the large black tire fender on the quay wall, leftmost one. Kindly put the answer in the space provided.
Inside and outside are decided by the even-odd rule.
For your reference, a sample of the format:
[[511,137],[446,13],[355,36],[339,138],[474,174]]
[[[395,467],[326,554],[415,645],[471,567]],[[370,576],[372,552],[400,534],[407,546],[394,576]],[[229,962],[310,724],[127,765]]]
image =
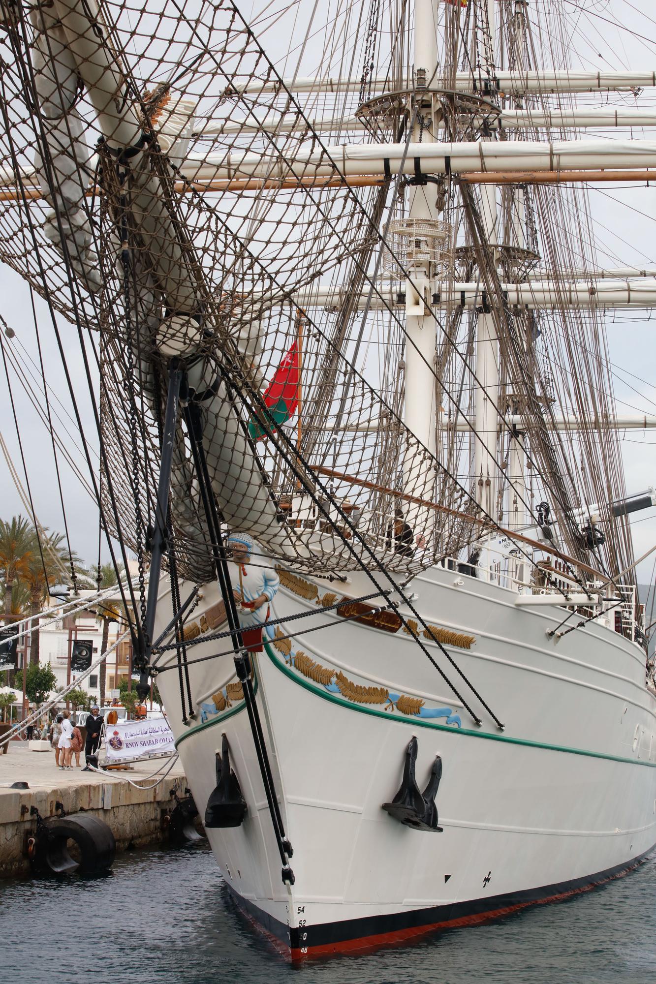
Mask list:
[[[71,856],[69,839],[77,845],[79,860]],[[116,840],[110,828],[88,813],[49,818],[37,835],[36,863],[41,871],[54,875],[98,874],[111,868],[115,855]]]

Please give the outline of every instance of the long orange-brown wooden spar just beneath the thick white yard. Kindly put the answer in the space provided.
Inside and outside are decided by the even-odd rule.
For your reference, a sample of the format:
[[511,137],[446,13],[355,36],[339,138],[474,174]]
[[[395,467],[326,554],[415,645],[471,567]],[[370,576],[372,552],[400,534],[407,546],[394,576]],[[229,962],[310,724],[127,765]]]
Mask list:
[[[606,181],[650,181],[656,182],[656,169],[634,171],[471,171],[459,175],[467,184],[560,184],[568,181],[606,182]],[[307,178],[219,178],[210,181],[176,181],[174,189],[178,194],[211,194],[212,192],[244,191],[300,191],[304,188],[321,190],[323,188],[372,188],[382,186],[384,176],[377,174],[349,175],[346,177],[307,177]],[[100,188],[89,188],[87,197],[101,196]],[[0,202],[20,202],[23,197],[34,201],[42,199],[40,188],[25,188],[23,193],[16,187],[5,187],[0,191]]]

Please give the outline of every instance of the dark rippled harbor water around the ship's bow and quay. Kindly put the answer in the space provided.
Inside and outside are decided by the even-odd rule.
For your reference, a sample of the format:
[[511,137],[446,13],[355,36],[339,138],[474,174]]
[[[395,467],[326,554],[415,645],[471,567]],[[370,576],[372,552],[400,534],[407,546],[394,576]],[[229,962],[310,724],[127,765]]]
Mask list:
[[0,984],[653,984],[656,859],[593,892],[413,945],[290,966],[235,907],[206,846],[112,871],[0,882]]

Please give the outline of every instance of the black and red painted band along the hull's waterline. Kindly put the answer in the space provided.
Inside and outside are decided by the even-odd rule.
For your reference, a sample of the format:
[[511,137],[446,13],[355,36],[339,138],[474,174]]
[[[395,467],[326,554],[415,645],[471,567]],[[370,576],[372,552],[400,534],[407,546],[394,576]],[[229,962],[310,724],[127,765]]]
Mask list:
[[[333,954],[344,953],[367,953],[381,947],[407,944],[420,936],[434,933],[438,930],[459,929],[463,926],[477,926],[482,923],[490,922],[528,908],[530,905],[544,905],[549,902],[561,901],[570,898],[581,892],[590,892],[598,886],[605,885],[617,878],[622,878],[630,871],[633,871],[640,864],[647,860],[648,855],[653,850],[627,861],[617,868],[599,872],[587,878],[577,879],[570,883],[560,883],[558,886],[545,886],[543,889],[527,890],[523,892],[508,893],[506,895],[496,895],[490,899],[478,898],[468,902],[458,902],[453,905],[441,905],[431,909],[416,910],[411,913],[398,913],[381,917],[367,919],[345,920],[343,922],[326,924],[324,926],[306,926],[303,933],[307,934],[307,946],[299,946],[297,938],[298,930],[290,930],[276,920],[272,920],[253,905],[247,902],[236,892],[231,894],[239,908],[247,916],[249,922],[263,933],[273,944],[275,949],[291,959],[292,962],[313,959],[315,957],[326,957]],[[455,911],[457,910],[457,914]],[[451,912],[453,914],[451,914]],[[439,918],[439,914],[443,917]],[[447,914],[448,913],[448,914]],[[430,918],[432,916],[432,918]],[[408,918],[416,919],[417,925],[405,925],[393,927],[393,923],[407,922]],[[435,918],[437,917],[437,918]],[[426,919],[426,921],[424,921]],[[386,928],[379,932],[366,932],[365,927],[373,927],[375,923],[384,923]],[[324,937],[324,940],[321,939]],[[325,939],[333,937],[333,939]],[[313,942],[313,939],[314,941]]]

